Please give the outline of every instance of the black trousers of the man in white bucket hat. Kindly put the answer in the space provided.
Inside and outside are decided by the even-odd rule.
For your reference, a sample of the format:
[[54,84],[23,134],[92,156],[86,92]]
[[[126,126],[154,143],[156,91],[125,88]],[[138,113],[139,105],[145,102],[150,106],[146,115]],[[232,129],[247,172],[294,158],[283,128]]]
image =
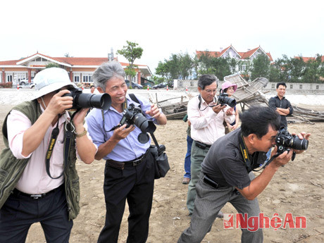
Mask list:
[[68,242],[73,221],[68,220],[64,187],[39,199],[11,194],[0,210],[0,243],[25,242],[30,226],[37,222],[42,225],[46,242]]

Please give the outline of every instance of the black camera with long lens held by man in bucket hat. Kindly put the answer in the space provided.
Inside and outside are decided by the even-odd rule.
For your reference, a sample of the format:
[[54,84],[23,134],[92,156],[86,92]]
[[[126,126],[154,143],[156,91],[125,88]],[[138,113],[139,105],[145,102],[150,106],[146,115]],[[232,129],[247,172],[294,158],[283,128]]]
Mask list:
[[108,110],[111,107],[111,96],[109,94],[85,94],[82,89],[69,89],[69,94],[63,96],[71,96],[73,98],[73,106],[71,109],[77,108],[101,108]]

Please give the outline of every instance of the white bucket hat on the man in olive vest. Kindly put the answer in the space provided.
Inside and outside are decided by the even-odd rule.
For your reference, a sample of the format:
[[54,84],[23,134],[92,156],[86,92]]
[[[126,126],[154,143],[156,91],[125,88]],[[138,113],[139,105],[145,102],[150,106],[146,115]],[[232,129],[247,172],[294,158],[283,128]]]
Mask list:
[[54,92],[57,89],[61,89],[66,85],[71,85],[77,88],[74,82],[70,81],[68,72],[62,68],[46,68],[34,78],[35,83],[35,97],[37,99],[45,94]]

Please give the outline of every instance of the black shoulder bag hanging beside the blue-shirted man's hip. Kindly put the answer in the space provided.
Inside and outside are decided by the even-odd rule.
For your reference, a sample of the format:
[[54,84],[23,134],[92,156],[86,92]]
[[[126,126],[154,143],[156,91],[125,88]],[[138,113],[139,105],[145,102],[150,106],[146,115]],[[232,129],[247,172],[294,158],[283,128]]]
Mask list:
[[160,179],[165,177],[168,170],[170,170],[170,165],[168,161],[168,156],[164,151],[166,147],[164,145],[159,146],[153,132],[150,132],[151,137],[156,145],[151,145],[149,147],[151,154],[154,156],[154,167],[155,167],[155,179]]

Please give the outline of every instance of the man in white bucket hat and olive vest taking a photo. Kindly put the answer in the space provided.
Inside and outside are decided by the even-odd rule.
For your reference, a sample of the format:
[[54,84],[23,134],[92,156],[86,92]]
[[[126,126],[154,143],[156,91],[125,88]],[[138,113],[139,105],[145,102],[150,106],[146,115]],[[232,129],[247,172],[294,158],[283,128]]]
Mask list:
[[96,145],[83,120],[87,108],[70,117],[75,87],[61,68],[37,73],[35,99],[15,106],[2,132],[0,158],[0,242],[25,242],[32,223],[41,223],[46,242],[68,242],[80,211],[76,154],[92,163]]

